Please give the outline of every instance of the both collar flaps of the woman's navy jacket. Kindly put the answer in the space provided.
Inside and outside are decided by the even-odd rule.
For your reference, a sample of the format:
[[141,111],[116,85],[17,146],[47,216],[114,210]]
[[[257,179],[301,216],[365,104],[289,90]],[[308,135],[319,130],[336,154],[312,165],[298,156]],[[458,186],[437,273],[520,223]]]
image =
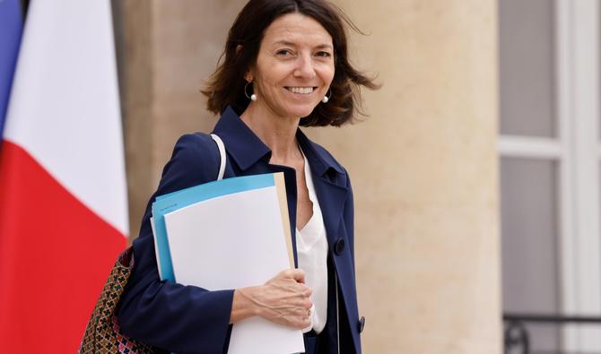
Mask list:
[[[269,162],[271,158],[269,147],[258,138],[230,106],[223,111],[213,133],[222,138],[229,155],[243,170],[250,168],[258,160]],[[345,173],[344,168],[340,167],[327,151],[315,142],[311,142],[300,129],[297,130],[296,138],[315,174],[324,176],[330,171]]]

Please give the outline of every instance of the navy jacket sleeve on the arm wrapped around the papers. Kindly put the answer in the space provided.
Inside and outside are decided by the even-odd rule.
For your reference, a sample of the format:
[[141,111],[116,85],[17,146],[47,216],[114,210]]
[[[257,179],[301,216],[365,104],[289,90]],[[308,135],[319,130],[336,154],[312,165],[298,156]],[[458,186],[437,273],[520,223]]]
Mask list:
[[119,303],[118,321],[127,336],[180,353],[222,353],[227,347],[233,289],[208,291],[161,281],[150,226],[157,195],[215,180],[219,159],[210,136],[187,134],[179,138],[163,168],[134,242],[134,269]]

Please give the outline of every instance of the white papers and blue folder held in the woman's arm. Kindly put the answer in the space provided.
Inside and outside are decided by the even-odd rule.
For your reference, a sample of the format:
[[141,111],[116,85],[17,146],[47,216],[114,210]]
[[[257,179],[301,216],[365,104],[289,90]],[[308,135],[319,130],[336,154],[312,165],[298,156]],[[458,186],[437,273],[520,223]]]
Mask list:
[[[161,280],[240,289],[294,266],[283,173],[161,195],[152,203],[151,221]],[[251,317],[234,324],[228,353],[302,351],[300,330]]]

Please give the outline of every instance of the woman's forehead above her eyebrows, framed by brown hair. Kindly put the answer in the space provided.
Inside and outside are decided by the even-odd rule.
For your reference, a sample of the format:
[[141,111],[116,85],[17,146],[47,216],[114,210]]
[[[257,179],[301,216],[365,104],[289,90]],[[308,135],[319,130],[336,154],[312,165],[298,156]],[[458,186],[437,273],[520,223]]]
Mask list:
[[332,37],[315,19],[300,13],[288,13],[275,19],[265,31],[264,44],[292,42],[314,46],[332,46]]

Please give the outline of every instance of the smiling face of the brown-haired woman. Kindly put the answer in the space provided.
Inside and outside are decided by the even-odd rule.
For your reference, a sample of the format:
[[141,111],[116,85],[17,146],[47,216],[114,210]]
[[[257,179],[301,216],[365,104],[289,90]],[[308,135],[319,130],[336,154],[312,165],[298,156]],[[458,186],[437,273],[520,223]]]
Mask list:
[[253,105],[277,117],[307,117],[334,78],[332,37],[308,16],[283,15],[267,27],[249,73],[257,94]]

